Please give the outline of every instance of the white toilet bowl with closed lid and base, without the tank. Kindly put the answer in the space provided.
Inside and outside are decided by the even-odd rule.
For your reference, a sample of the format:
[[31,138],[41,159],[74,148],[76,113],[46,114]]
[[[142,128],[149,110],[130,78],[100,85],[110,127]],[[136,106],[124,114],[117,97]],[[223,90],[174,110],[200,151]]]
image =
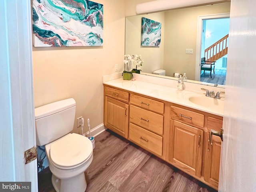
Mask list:
[[84,192],[87,186],[84,171],[93,159],[92,142],[72,133],[47,144],[45,149],[54,189],[57,192]]

